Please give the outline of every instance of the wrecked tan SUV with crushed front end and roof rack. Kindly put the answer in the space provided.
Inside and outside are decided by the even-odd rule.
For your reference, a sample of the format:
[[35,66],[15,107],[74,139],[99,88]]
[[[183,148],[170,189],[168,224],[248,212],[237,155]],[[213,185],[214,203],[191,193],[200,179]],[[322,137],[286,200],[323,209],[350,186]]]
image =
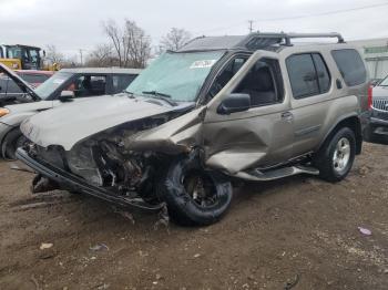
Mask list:
[[229,207],[233,179],[345,178],[361,152],[367,90],[361,58],[338,33],[203,37],[153,61],[119,97],[24,121],[30,143],[17,156],[39,173],[34,191],[166,206],[178,224],[208,225]]

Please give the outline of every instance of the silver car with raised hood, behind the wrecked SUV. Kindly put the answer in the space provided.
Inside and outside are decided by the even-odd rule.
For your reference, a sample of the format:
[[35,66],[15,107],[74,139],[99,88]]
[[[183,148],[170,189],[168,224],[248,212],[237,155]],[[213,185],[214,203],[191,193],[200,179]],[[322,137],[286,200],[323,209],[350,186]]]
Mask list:
[[16,148],[24,142],[19,130],[23,120],[73,100],[120,93],[141,72],[135,69],[65,69],[33,90],[4,65],[0,64],[0,70],[22,91],[21,96],[4,101],[13,105],[0,108],[0,153],[9,159],[14,158]]

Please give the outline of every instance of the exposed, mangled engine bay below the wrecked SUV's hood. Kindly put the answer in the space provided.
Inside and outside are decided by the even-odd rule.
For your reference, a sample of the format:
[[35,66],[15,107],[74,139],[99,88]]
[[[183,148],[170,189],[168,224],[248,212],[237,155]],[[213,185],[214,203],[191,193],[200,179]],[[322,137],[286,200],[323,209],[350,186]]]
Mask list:
[[[95,134],[80,142],[71,151],[61,146],[43,148],[28,145],[31,156],[84,178],[89,184],[103,187],[112,194],[126,197],[155,198],[153,178],[167,155],[151,151],[132,151],[130,144],[140,133],[157,127],[176,114],[139,120]],[[45,177],[40,177],[45,178]],[[53,184],[35,182],[34,193],[53,189]]]

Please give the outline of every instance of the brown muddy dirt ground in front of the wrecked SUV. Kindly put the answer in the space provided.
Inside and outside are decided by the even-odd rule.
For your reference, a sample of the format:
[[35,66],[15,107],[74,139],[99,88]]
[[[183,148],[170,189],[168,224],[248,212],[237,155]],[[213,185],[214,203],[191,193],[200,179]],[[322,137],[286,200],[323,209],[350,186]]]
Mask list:
[[205,228],[65,191],[32,196],[32,175],[0,162],[0,289],[388,289],[387,153],[366,144],[336,185],[235,188],[228,215]]

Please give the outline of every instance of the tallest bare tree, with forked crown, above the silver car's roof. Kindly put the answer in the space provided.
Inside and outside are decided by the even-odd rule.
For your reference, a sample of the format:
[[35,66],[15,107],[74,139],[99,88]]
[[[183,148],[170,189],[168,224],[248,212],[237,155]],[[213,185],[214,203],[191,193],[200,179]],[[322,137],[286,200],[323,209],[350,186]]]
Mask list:
[[114,20],[109,20],[103,27],[119,60],[119,66],[145,66],[151,54],[151,39],[142,28],[127,19],[123,29]]

